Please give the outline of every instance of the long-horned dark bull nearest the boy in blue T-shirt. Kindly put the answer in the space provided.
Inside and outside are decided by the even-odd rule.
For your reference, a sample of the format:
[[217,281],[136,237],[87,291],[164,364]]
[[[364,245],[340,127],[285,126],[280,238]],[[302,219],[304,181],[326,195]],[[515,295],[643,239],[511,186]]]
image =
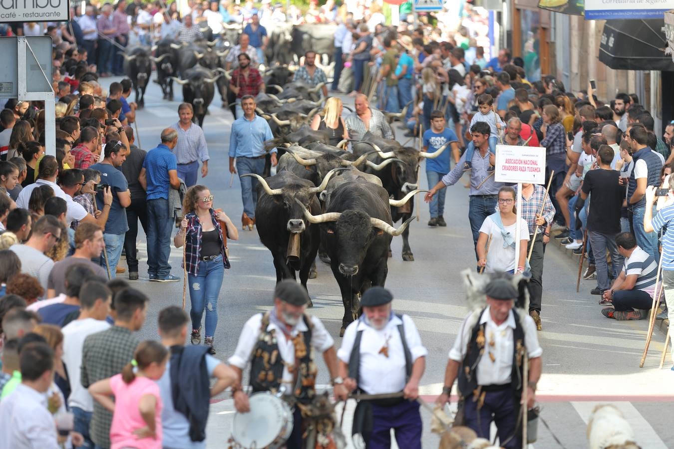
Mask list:
[[[419,187],[419,166],[421,160],[425,158],[437,158],[451,143],[447,142],[434,153],[425,153],[416,148],[403,147],[396,141],[382,139],[370,133],[365,133],[363,139],[355,143],[353,151],[355,154],[361,154],[365,151],[370,151],[371,148],[375,149],[377,156],[374,158],[374,164],[384,164],[386,161],[395,160],[396,164],[391,170],[375,170],[373,166],[369,165],[366,171],[379,176],[389,196],[397,200]],[[400,206],[392,205],[391,215],[393,222],[396,223],[398,220],[406,221],[412,216],[413,211],[413,198],[410,201],[402,203]],[[402,260],[415,260],[409,244],[409,230],[406,230],[402,234]]]

